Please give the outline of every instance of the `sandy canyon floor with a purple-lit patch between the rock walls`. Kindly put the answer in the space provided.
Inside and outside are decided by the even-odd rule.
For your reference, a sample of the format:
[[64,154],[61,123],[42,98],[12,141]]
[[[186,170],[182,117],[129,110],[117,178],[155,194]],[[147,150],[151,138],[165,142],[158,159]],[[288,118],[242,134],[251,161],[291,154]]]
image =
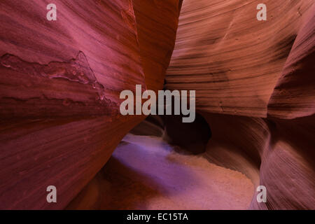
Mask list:
[[247,209],[252,195],[239,172],[128,134],[68,209]]

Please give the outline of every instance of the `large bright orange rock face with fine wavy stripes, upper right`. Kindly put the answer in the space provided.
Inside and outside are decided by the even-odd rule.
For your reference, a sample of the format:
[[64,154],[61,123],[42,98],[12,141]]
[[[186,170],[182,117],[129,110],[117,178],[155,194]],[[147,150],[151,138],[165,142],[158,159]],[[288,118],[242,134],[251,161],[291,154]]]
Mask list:
[[267,104],[313,1],[183,1],[167,89],[196,90],[197,109],[267,116]]

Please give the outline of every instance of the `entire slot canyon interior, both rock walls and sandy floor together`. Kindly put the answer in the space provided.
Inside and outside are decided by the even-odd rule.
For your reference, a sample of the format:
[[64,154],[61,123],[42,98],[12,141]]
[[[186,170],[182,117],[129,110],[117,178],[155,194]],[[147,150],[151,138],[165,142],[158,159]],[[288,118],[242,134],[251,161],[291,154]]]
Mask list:
[[[315,209],[313,0],[265,0],[267,21],[249,0],[48,3],[0,1],[0,209]],[[195,122],[122,116],[136,85],[196,90]]]

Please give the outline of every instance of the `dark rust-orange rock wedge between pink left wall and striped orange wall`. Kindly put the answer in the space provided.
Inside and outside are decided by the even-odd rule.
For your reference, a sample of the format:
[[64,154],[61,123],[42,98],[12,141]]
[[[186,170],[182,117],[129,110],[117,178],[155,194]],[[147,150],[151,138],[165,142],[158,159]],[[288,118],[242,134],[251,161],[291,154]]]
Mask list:
[[148,90],[161,90],[174,49],[182,0],[132,0]]

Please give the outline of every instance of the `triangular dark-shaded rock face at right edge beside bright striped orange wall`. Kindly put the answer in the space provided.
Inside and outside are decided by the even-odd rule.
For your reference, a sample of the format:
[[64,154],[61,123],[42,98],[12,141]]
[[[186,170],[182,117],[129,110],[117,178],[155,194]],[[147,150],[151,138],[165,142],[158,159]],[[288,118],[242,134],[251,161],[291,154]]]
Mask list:
[[292,119],[315,113],[315,6],[309,10],[268,104],[268,116]]

